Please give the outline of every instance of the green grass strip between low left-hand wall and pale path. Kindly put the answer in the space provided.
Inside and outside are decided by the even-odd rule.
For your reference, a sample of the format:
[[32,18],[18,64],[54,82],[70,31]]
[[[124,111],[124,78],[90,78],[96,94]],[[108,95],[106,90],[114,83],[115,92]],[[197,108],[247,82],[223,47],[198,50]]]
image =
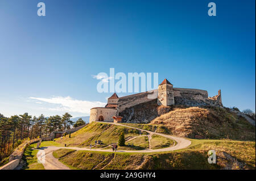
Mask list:
[[26,161],[26,166],[23,169],[25,170],[44,170],[44,166],[42,163],[38,163],[38,158],[36,154],[38,150],[33,150],[32,148],[36,148],[36,144],[32,144],[26,148],[23,154],[23,159]]

